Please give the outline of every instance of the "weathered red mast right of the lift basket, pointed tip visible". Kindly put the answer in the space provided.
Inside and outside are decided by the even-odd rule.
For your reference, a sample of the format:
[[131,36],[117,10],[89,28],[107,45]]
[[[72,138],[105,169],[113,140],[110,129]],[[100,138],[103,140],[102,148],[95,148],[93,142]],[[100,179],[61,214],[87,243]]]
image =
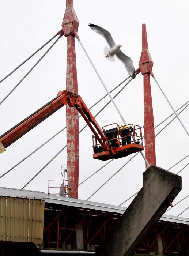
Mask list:
[[[139,61],[139,68],[144,78],[144,139],[145,158],[149,165],[156,166],[155,157],[155,133],[154,115],[152,107],[152,95],[150,86],[150,74],[152,73],[153,61],[148,51],[146,25],[142,25],[142,53]],[[146,166],[147,167],[147,166]]]

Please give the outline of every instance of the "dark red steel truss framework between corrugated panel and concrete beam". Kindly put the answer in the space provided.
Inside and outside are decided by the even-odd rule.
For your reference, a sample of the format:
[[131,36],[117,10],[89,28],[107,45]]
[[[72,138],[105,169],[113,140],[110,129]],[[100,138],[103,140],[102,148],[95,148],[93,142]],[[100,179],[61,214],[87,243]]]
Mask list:
[[98,247],[121,216],[111,212],[48,203],[45,205],[44,248],[63,248],[64,244],[71,244],[76,249],[75,231],[80,225],[83,225],[84,248]]

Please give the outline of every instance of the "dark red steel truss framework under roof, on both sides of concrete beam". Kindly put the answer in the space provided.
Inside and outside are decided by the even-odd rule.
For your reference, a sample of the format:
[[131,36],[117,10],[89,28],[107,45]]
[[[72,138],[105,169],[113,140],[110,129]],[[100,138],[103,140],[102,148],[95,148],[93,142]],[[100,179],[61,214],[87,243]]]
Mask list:
[[[95,250],[110,234],[122,214],[89,210],[72,206],[45,204],[44,248],[76,249],[76,229],[83,226],[84,249],[94,246]],[[158,238],[162,239],[164,255],[178,255],[188,243],[189,226],[159,220],[153,227],[137,253],[149,253],[155,250]]]

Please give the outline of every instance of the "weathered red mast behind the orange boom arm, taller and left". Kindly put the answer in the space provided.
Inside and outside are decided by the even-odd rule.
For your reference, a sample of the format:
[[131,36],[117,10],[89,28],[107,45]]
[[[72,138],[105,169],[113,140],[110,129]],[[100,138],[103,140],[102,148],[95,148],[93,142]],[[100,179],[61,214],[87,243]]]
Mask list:
[[[62,28],[67,37],[67,73],[66,90],[78,94],[75,38],[74,30],[78,31],[79,21],[73,8],[73,0],[66,1],[66,10]],[[67,170],[69,197],[78,198],[79,180],[79,123],[76,108],[66,107],[67,123]]]

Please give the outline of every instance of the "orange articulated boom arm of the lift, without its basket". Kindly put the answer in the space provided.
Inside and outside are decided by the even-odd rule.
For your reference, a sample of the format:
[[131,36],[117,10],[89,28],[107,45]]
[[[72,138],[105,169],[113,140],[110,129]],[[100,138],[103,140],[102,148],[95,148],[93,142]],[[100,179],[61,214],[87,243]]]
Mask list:
[[[5,148],[10,146],[16,140],[21,138],[24,134],[29,132],[35,126],[40,124],[58,109],[64,105],[69,105],[70,107],[76,107],[79,113],[82,115],[87,125],[90,127],[91,131],[94,133],[98,142],[101,144],[103,150],[109,150],[109,146],[106,145],[107,137],[104,135],[102,129],[99,127],[97,121],[92,116],[91,112],[83,102],[82,98],[73,94],[69,91],[60,91],[57,97],[52,99],[42,108],[38,109],[36,112],[31,114],[29,117],[25,118],[19,124],[15,125],[9,131],[5,132],[0,136],[0,153],[2,153]],[[103,140],[102,140],[103,139]],[[1,144],[2,143],[2,144]]]

